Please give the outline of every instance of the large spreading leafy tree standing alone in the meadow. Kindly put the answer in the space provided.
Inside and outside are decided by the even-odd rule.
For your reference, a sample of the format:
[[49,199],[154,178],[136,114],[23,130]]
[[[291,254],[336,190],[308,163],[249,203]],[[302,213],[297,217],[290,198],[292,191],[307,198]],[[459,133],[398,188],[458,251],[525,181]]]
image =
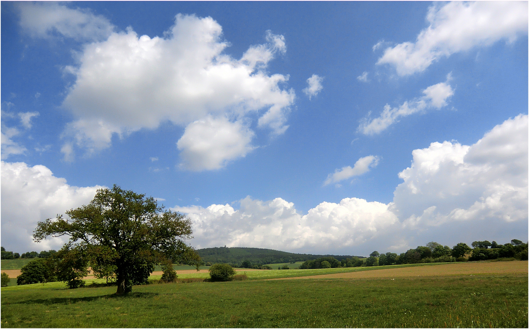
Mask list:
[[[39,222],[33,239],[70,236],[68,245],[85,250],[101,266],[115,266],[116,294],[146,283],[158,263],[196,257],[184,242],[193,238],[189,218],[163,211],[154,198],[117,185],[98,189],[92,202],[66,214],[70,219],[58,215]],[[96,257],[102,252],[104,257]]]

